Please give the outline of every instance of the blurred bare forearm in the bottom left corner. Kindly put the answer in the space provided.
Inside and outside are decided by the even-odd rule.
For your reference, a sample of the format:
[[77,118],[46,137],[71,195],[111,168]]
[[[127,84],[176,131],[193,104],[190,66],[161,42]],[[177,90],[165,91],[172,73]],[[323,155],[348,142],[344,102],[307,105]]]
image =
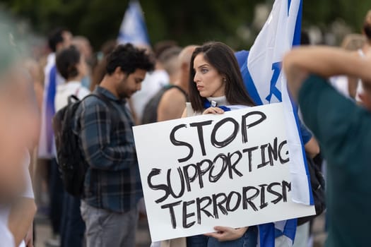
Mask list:
[[35,200],[32,198],[18,198],[11,205],[11,212],[8,217],[8,228],[13,234],[16,246],[25,238],[33,217],[36,213]]

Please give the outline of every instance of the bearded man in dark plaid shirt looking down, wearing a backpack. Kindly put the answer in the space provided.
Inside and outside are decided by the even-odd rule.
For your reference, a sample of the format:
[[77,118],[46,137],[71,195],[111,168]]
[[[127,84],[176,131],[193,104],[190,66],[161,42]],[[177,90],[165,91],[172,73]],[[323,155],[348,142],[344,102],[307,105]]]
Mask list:
[[[142,195],[126,98],[141,89],[153,62],[144,50],[119,45],[107,56],[106,75],[83,100],[73,126],[88,163],[81,215],[87,245],[135,246],[137,203]],[[108,104],[110,103],[110,104]]]

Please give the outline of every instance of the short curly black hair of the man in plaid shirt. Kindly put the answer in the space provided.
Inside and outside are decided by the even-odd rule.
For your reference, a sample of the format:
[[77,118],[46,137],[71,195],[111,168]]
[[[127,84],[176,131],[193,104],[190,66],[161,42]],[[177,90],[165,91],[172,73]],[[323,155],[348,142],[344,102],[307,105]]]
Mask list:
[[137,68],[145,71],[153,71],[154,61],[146,54],[145,49],[138,49],[132,44],[119,44],[107,56],[106,72],[112,75],[114,70],[119,67],[127,75],[134,73]]

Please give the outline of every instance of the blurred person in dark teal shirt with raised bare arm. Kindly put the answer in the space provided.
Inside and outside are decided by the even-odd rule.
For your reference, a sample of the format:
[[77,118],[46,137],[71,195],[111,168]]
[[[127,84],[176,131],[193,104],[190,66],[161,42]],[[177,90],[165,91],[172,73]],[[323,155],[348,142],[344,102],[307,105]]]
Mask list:
[[[283,69],[303,119],[327,161],[326,246],[370,246],[371,58],[330,47],[293,49]],[[363,105],[340,95],[327,78],[363,80]]]

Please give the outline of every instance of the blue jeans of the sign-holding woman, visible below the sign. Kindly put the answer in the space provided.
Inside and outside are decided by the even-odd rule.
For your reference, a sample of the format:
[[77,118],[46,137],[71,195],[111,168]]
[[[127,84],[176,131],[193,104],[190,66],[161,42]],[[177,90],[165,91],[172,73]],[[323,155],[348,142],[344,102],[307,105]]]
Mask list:
[[249,229],[247,229],[245,234],[242,237],[240,237],[240,239],[219,242],[218,240],[214,238],[209,238],[207,246],[208,247],[250,247],[250,246],[257,246],[257,240],[258,240],[258,227],[252,226],[252,227],[249,227]]

